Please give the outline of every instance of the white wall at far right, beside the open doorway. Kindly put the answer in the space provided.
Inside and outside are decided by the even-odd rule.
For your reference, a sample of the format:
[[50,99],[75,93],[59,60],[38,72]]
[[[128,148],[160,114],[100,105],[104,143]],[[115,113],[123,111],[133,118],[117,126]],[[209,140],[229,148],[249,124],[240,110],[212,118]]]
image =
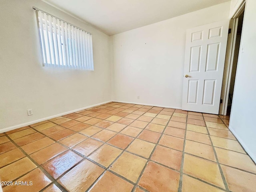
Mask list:
[[[241,46],[230,116],[230,129],[256,162],[256,1],[246,0]],[[241,47],[240,46],[240,47]]]

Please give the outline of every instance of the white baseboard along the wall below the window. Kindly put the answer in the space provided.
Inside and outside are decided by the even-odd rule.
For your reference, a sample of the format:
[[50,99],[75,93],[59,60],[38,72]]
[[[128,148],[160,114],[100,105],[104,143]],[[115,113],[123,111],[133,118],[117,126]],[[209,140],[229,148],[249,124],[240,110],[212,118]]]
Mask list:
[[66,114],[74,113],[74,112],[77,112],[77,111],[80,111],[80,110],[88,109],[88,108],[91,108],[91,107],[94,107],[94,106],[106,104],[106,103],[109,103],[109,102],[112,102],[112,101],[110,100],[110,101],[94,104],[94,105],[91,105],[91,106],[79,108],[79,109],[76,109],[76,110],[67,111],[67,112],[64,112],[64,113],[60,113],[60,114],[56,114],[56,115],[53,115],[53,116],[45,117],[45,118],[42,118],[42,119],[38,119],[38,120],[22,123],[22,124],[19,124],[19,125],[10,126],[10,127],[1,129],[0,133],[4,133],[4,132],[10,131],[10,130],[14,130],[14,129],[21,128],[21,127],[24,127],[24,126],[28,126],[28,125],[31,125],[31,124],[34,124],[34,123],[38,123],[38,122],[41,122],[41,121],[49,120],[49,119],[52,119],[52,118],[55,118],[55,117],[59,117],[59,116],[63,116],[63,115],[66,115]]

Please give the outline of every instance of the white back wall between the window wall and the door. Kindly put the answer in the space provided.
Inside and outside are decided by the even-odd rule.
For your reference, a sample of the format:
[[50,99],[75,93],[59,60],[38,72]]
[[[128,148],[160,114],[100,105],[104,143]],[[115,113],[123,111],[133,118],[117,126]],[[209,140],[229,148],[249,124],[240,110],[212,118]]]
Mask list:
[[226,20],[229,10],[226,2],[112,36],[113,99],[181,108],[186,29]]

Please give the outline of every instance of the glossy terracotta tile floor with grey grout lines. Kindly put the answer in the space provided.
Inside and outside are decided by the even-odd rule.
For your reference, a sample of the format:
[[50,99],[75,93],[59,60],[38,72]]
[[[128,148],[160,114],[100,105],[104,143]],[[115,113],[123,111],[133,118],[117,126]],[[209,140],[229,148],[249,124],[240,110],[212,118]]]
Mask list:
[[3,191],[255,192],[228,119],[111,102],[2,133]]

